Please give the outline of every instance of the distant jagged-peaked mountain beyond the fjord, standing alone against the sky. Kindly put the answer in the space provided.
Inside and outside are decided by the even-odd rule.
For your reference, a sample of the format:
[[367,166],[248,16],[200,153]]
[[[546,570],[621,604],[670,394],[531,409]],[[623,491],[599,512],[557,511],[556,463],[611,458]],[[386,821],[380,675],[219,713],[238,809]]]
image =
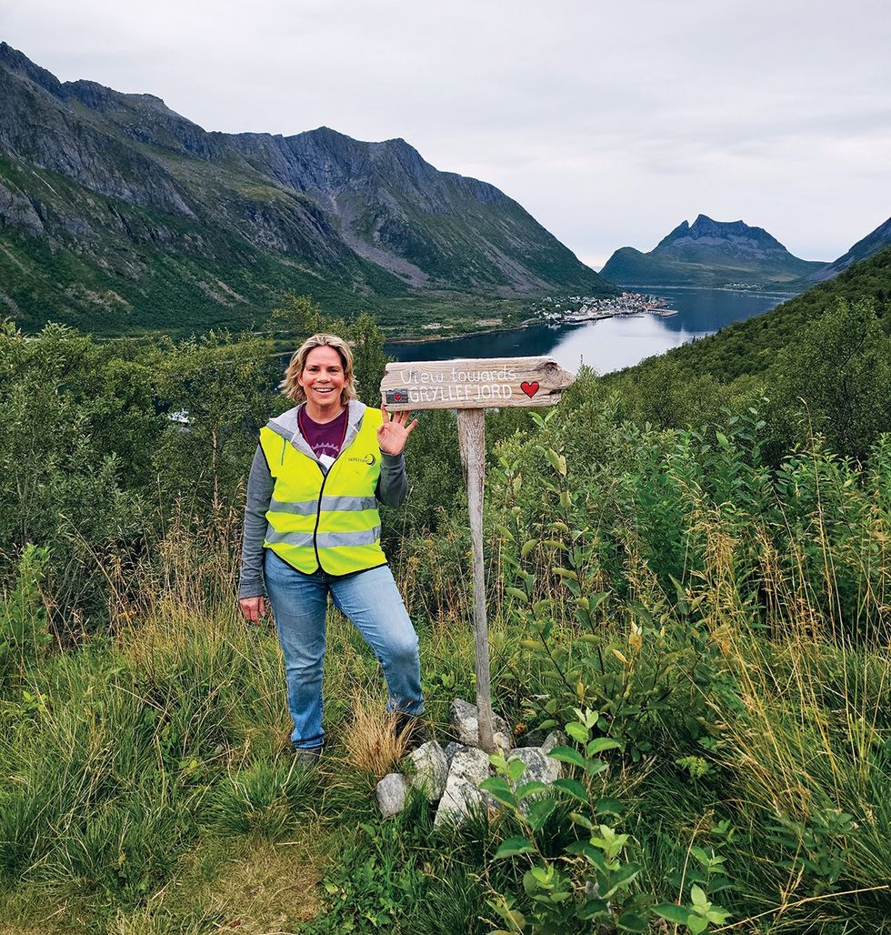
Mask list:
[[600,275],[622,286],[767,286],[798,280],[822,266],[799,260],[762,227],[700,214],[692,224],[678,224],[649,253],[617,250]]

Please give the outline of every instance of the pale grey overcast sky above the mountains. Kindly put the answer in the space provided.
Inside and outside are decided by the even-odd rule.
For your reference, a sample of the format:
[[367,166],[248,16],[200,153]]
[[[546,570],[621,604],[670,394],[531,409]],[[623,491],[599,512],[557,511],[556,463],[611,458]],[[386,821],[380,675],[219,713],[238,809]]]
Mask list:
[[0,0],[0,37],[207,130],[403,137],[596,267],[699,212],[809,260],[891,215],[887,0]]

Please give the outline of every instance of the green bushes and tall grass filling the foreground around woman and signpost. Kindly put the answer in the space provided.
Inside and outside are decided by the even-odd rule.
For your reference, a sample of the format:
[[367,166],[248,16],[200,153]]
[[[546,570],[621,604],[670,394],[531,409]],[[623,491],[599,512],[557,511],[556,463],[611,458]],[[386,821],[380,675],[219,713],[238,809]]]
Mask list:
[[[844,370],[864,392],[887,339],[876,307],[830,303],[798,342],[868,308]],[[296,299],[279,321],[294,341],[347,330],[375,399],[373,321]],[[844,448],[813,431],[845,399],[808,381],[834,345],[811,353],[786,371],[806,391],[786,410],[760,402],[769,367],[740,388],[669,358],[661,383],[657,362],[583,371],[545,415],[487,415],[496,709],[518,737],[566,730],[570,755],[531,808],[496,783],[502,811],[434,829],[420,799],[376,813],[398,750],[378,664],[338,614],[331,742],[309,773],[274,630],[237,617],[243,477],[285,405],[268,346],[7,324],[0,928],[887,930],[891,423],[851,421]],[[647,424],[659,386],[674,409]],[[475,691],[456,449],[453,415],[424,413],[408,509],[384,514],[440,737]]]

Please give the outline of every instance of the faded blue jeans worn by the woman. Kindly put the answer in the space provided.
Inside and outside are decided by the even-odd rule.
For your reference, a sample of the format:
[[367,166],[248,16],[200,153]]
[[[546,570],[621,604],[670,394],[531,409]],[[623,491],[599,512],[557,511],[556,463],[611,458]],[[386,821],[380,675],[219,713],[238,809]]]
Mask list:
[[288,679],[288,707],[297,750],[322,746],[322,663],[328,593],[338,611],[358,627],[383,667],[388,711],[424,713],[418,637],[390,568],[369,568],[347,578],[321,569],[305,575],[271,549],[264,556],[266,593],[272,602]]

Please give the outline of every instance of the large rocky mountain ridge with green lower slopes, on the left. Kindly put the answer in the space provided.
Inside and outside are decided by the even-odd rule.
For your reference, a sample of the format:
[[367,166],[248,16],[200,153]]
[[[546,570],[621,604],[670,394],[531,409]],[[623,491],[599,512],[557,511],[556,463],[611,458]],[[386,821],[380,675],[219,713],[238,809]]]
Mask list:
[[403,139],[208,133],[0,43],[0,308],[107,334],[243,327],[286,291],[385,320],[612,287]]

